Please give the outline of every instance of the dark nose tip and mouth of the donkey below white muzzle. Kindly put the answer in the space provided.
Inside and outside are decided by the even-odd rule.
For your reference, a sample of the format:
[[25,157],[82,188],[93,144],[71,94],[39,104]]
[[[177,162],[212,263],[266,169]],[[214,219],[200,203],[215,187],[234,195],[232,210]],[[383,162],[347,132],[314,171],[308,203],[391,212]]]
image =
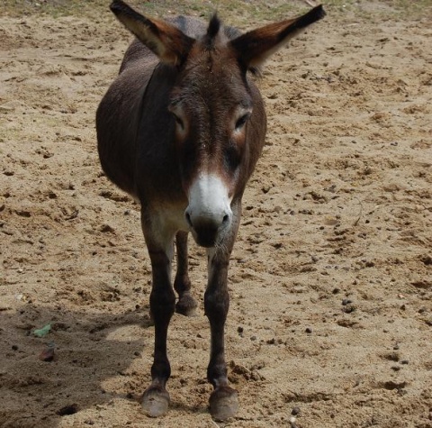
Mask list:
[[193,213],[188,206],[184,216],[192,229],[196,243],[202,247],[212,247],[218,241],[220,232],[229,227],[232,213],[229,209],[219,213]]

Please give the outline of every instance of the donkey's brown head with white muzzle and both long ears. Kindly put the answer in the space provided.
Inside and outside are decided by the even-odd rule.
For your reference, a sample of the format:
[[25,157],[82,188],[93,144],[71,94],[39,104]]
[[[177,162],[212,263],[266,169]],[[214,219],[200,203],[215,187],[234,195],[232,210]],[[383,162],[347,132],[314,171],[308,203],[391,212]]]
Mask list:
[[207,32],[194,39],[120,0],[111,9],[162,63],[178,70],[168,109],[188,197],[184,215],[195,241],[211,247],[232,230],[231,206],[239,202],[264,143],[266,114],[247,71],[256,71],[324,11],[318,6],[242,35],[213,16]]

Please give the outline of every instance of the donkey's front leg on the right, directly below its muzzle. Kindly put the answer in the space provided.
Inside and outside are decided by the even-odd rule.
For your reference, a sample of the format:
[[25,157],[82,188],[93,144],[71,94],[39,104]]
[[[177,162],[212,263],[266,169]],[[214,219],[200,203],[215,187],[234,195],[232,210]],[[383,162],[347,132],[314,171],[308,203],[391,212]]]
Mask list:
[[211,356],[207,378],[214,387],[210,396],[210,413],[216,420],[226,420],[238,412],[237,391],[228,385],[225,362],[224,326],[229,309],[227,250],[210,249],[209,284],[204,295],[205,314],[211,328]]

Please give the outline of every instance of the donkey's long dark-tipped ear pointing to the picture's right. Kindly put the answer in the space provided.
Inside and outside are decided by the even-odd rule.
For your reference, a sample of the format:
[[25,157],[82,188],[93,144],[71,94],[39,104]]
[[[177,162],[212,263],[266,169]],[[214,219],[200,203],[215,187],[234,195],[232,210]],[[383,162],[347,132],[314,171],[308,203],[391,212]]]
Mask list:
[[270,23],[247,32],[230,43],[246,68],[257,68],[276,50],[282,48],[308,25],[323,18],[325,14],[322,5],[319,5],[307,14],[281,23]]

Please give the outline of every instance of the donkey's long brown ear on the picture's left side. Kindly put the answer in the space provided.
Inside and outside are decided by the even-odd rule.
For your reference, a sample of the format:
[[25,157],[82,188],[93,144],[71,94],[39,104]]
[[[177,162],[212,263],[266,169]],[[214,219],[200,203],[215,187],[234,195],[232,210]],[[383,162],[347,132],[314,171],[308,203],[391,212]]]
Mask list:
[[121,0],[114,0],[110,8],[118,20],[162,62],[178,65],[186,58],[194,39],[186,36],[174,25],[154,18],[149,19]]

